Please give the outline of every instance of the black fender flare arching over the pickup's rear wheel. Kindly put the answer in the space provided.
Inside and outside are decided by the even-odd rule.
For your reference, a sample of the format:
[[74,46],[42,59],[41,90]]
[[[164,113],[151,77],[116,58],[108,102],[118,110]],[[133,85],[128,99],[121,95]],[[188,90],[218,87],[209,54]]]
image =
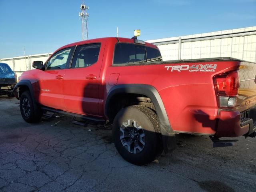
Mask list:
[[120,84],[113,86],[106,97],[104,106],[104,113],[106,117],[108,117],[108,108],[112,96],[119,93],[143,94],[151,99],[159,118],[164,151],[168,152],[174,150],[176,147],[175,134],[170,125],[160,94],[156,88],[147,84]]

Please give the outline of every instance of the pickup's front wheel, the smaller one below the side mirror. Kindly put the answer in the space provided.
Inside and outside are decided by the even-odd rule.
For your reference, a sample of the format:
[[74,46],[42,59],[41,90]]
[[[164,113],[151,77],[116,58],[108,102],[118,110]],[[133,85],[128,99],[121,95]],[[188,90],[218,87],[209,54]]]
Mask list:
[[39,122],[42,117],[42,110],[34,104],[30,92],[25,91],[20,96],[20,113],[28,123]]

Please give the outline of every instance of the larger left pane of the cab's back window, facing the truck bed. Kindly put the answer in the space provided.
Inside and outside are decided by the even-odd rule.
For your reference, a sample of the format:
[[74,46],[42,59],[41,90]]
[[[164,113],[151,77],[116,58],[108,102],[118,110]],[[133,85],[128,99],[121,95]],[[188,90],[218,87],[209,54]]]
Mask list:
[[115,48],[114,64],[145,62],[146,50],[144,46],[128,43],[118,43]]

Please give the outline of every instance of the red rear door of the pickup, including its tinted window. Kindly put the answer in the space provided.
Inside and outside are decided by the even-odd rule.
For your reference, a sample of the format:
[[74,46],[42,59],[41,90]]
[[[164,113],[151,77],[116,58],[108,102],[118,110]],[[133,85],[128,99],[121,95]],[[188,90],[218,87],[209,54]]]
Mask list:
[[66,111],[98,115],[99,76],[104,47],[105,41],[76,47],[63,84]]

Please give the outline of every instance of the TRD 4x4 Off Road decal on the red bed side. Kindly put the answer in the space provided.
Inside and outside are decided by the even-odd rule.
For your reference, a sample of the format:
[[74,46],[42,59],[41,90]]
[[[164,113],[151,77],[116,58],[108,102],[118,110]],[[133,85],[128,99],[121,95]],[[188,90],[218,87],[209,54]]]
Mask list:
[[189,72],[214,72],[217,68],[217,64],[198,64],[198,65],[172,65],[164,66],[167,68],[167,71],[189,71]]

